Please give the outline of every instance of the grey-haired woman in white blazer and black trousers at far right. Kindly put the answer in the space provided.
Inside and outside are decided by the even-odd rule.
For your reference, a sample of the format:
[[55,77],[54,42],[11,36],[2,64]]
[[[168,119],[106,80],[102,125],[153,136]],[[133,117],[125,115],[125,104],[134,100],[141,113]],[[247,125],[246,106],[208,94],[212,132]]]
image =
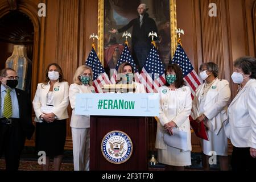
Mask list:
[[233,144],[232,170],[256,170],[256,59],[241,57],[234,62],[232,80],[239,92],[228,108],[225,132]]

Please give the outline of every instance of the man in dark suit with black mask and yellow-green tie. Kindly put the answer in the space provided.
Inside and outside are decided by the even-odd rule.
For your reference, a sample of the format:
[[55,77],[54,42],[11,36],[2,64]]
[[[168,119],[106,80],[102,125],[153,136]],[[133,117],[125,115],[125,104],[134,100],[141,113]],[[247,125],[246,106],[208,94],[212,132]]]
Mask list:
[[26,137],[31,139],[34,133],[31,100],[15,88],[18,76],[14,69],[2,69],[0,81],[0,157],[5,154],[6,170],[18,170]]

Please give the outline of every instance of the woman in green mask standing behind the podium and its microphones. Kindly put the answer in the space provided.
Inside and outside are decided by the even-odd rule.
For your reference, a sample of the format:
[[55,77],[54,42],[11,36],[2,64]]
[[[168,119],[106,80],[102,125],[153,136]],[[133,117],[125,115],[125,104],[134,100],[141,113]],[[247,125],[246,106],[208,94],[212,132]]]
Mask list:
[[[134,80],[134,68],[130,63],[122,63],[118,68],[118,74],[121,77],[121,81],[118,84],[134,84],[136,85],[135,93],[146,93],[144,85],[133,81]],[[129,91],[129,90],[128,90]]]

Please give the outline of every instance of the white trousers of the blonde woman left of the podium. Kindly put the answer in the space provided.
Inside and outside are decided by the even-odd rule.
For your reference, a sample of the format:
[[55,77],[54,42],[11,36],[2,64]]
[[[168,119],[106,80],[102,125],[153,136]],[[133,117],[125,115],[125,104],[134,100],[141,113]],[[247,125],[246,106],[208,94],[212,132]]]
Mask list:
[[90,128],[72,127],[73,158],[75,171],[89,171]]

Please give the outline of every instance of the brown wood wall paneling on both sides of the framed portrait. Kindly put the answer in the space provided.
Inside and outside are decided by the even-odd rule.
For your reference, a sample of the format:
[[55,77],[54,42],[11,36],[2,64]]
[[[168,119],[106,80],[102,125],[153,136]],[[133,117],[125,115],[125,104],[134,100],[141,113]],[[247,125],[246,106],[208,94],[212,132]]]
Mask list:
[[[47,4],[46,18],[37,15],[39,2]],[[217,17],[210,18],[208,5],[212,2],[217,4]],[[201,63],[217,63],[220,77],[230,82],[232,98],[237,89],[230,81],[233,61],[243,55],[255,57],[254,4],[255,0],[176,1],[177,27],[185,31],[185,35],[181,36],[183,48],[196,72]],[[31,98],[34,98],[36,85],[42,82],[44,69],[49,63],[59,63],[71,84],[73,73],[85,63],[92,48],[89,35],[97,32],[98,1],[22,0],[19,1],[18,10],[31,18],[35,28]],[[8,11],[7,0],[0,0],[0,17]],[[71,148],[70,129],[67,140],[66,147]],[[196,137],[192,137],[192,144],[193,151],[200,150]],[[154,146],[154,140],[149,146]]]

